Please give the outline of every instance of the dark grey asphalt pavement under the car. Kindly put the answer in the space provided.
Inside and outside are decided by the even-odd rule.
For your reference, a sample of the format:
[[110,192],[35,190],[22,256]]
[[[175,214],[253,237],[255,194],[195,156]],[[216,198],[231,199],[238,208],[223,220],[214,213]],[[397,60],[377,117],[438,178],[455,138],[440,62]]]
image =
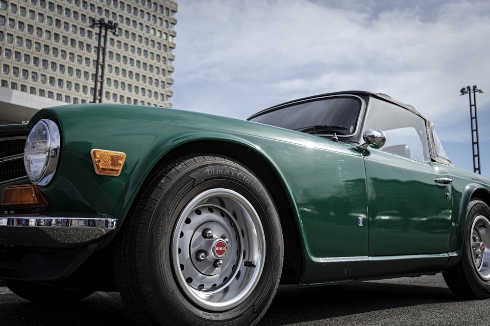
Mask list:
[[[120,295],[96,292],[77,304],[33,304],[0,287],[0,325],[133,325]],[[490,299],[464,301],[441,274],[298,288],[281,285],[259,326],[490,325]]]

